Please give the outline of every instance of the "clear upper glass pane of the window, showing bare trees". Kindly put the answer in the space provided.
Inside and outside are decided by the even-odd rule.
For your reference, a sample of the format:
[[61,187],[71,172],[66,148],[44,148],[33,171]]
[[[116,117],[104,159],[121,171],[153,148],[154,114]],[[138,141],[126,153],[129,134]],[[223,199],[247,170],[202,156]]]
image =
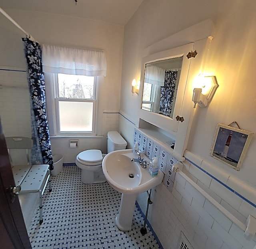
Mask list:
[[94,77],[58,73],[58,97],[95,99]]

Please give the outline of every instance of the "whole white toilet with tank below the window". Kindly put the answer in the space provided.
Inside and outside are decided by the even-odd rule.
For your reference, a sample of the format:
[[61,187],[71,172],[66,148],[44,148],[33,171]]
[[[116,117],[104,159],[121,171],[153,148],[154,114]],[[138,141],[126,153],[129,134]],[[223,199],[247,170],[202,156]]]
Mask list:
[[[124,150],[126,146],[126,140],[117,131],[108,132],[108,153],[114,150]],[[105,155],[100,150],[84,150],[76,156],[76,165],[82,169],[83,183],[106,182],[102,172],[102,160]]]

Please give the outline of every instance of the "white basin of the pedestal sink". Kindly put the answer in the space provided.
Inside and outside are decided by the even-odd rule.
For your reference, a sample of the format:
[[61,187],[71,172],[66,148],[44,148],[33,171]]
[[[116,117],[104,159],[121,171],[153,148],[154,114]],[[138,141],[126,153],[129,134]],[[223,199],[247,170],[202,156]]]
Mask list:
[[[139,194],[160,184],[164,174],[161,170],[158,176],[152,177],[147,168],[142,168],[138,162],[131,162],[138,156],[129,150],[116,150],[107,154],[102,161],[102,170],[106,180],[122,194]],[[142,158],[149,159],[142,153]]]

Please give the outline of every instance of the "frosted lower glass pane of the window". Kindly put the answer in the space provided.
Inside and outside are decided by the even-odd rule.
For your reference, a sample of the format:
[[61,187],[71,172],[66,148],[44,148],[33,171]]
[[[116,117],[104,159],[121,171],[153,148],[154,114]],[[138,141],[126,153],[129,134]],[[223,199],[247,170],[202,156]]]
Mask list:
[[92,132],[93,103],[59,101],[60,132]]

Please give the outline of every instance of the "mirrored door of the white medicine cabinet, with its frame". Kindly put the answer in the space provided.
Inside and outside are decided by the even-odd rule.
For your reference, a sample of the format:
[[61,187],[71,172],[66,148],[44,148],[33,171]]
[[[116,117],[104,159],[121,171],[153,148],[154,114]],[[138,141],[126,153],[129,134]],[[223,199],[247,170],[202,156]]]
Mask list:
[[140,119],[176,133],[193,43],[155,53],[142,59]]

